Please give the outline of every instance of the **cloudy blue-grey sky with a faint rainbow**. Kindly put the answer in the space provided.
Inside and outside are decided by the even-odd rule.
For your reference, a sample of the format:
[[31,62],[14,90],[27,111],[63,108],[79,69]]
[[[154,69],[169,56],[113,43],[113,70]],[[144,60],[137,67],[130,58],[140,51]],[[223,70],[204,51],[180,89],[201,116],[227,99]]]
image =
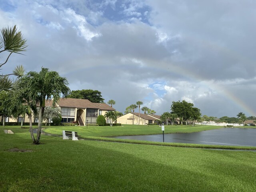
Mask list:
[[49,68],[71,90],[99,90],[120,112],[142,101],[161,115],[186,100],[202,115],[256,116],[255,7],[254,0],[0,0],[0,28],[16,25],[28,44],[0,72]]

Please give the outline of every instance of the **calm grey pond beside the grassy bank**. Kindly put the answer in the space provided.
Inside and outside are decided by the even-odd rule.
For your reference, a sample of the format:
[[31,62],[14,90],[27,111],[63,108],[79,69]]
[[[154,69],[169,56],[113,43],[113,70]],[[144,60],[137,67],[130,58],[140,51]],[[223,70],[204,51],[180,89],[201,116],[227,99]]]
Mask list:
[[[161,129],[159,132],[162,132]],[[163,142],[163,135],[115,136],[132,140]],[[164,134],[164,142],[208,145],[256,146],[255,128],[221,128],[194,133]]]

